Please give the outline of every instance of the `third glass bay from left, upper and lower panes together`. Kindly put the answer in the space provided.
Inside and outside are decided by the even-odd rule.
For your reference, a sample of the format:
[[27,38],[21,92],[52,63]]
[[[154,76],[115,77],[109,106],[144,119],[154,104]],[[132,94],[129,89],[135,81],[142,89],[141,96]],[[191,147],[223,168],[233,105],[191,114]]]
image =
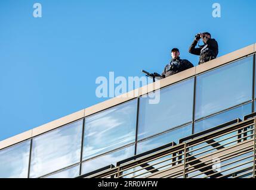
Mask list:
[[82,173],[134,156],[137,104],[131,100],[85,118]]

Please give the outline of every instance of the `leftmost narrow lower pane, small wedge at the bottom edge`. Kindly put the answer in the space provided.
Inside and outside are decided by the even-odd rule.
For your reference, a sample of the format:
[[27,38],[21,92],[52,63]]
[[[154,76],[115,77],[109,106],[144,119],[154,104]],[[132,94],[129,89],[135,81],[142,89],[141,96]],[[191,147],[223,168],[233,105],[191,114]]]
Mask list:
[[79,169],[80,165],[76,165],[52,175],[48,175],[45,178],[76,178],[79,176]]

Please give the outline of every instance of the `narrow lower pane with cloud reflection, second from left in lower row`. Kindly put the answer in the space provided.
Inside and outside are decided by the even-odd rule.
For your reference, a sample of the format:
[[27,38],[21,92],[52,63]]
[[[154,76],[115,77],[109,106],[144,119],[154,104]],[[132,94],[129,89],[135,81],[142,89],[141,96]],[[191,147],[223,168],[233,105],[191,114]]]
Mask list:
[[109,166],[110,164],[115,166],[116,162],[132,156],[134,156],[134,145],[82,163],[82,174],[92,172],[105,166]]

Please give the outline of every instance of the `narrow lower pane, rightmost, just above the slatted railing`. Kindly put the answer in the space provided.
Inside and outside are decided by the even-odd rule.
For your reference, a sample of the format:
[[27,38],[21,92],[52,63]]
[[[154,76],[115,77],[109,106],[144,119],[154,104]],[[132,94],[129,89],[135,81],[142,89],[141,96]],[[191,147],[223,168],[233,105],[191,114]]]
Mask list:
[[195,133],[205,131],[206,129],[214,126],[224,124],[232,119],[240,118],[243,120],[243,116],[251,113],[252,104],[248,103],[243,106],[236,107],[218,115],[211,116],[210,118],[203,119],[202,121],[195,122]]

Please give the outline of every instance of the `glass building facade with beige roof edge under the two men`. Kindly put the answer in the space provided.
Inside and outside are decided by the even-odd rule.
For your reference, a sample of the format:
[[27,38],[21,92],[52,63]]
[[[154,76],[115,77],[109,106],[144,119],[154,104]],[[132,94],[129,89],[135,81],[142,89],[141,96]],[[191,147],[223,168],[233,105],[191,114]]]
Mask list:
[[[164,78],[160,81],[161,99],[158,104],[150,104],[150,97],[143,96],[143,89],[146,87],[141,87],[137,97],[115,97],[1,141],[0,178],[76,178],[108,166],[110,170],[111,168],[115,170],[122,160],[131,157],[133,157],[132,160],[136,160],[138,157],[134,156],[145,156],[144,153],[149,153],[147,155],[150,156],[150,150],[170,143],[171,147],[163,147],[163,150],[167,151],[165,154],[167,160],[171,155],[169,159],[171,166],[179,167],[178,164],[185,164],[187,167],[186,164],[189,163],[185,163],[184,160],[190,157],[189,162],[206,169],[202,172],[202,169],[197,170],[198,168],[193,167],[192,172],[195,173],[190,175],[192,172],[186,173],[187,169],[183,166],[179,170],[183,173],[169,177],[220,177],[218,173],[221,171],[218,171],[220,168],[218,164],[225,166],[225,161],[230,160],[228,158],[221,160],[221,156],[216,158],[212,156],[215,154],[214,151],[220,151],[218,147],[227,148],[221,142],[225,143],[228,140],[230,144],[234,142],[245,144],[246,140],[251,142],[249,138],[251,136],[247,136],[255,134],[254,121],[249,120],[252,123],[247,124],[248,121],[244,121],[243,118],[255,112],[255,53],[256,43]],[[196,151],[199,150],[200,142],[195,141],[195,138],[199,138],[200,134],[206,135],[206,131],[214,132],[211,129],[219,130],[220,127],[216,128],[216,126],[227,124],[234,119],[238,121],[229,123],[234,125],[229,129],[240,127],[238,133],[223,131],[223,136],[215,133],[214,137],[207,136],[209,140],[200,141],[203,144],[201,148],[204,148],[203,155],[209,154],[211,162],[212,159],[216,159],[217,165],[211,164],[211,168],[208,168],[202,163],[196,163],[199,158],[197,156],[199,153],[197,154]],[[243,126],[240,126],[241,122]],[[228,126],[230,125],[224,127]],[[244,128],[253,132],[239,133],[239,130]],[[229,137],[225,136],[228,132],[230,132]],[[239,136],[240,134],[243,138]],[[193,135],[196,136],[193,137]],[[232,141],[235,135],[238,139]],[[193,137],[193,143],[189,141],[193,146],[186,147],[187,144],[182,141],[186,137]],[[252,139],[255,141],[254,136]],[[209,143],[210,140],[214,141]],[[215,145],[215,149],[211,150],[208,147],[209,144]],[[253,172],[250,173],[252,177],[255,175],[255,143],[253,146],[253,151],[237,153],[238,156],[244,155],[245,159],[248,159],[249,153],[252,153],[252,166],[248,166],[252,167]],[[178,147],[180,149],[177,150]],[[175,151],[173,148],[176,148]],[[168,154],[168,150],[172,149],[175,153]],[[192,153],[192,150],[195,152]],[[227,153],[233,153],[233,151],[226,150],[225,154]],[[160,154],[158,156],[160,156],[159,159],[164,158]],[[195,160],[191,160],[192,157]],[[242,158],[238,157],[238,162],[239,159]],[[210,160],[209,157],[208,160]],[[153,160],[150,162],[154,163]],[[153,164],[159,166],[158,170],[153,166],[150,166],[153,167],[151,170],[146,169],[147,175],[166,169],[167,166],[162,166],[161,163]],[[141,167],[135,164],[133,168],[135,172],[129,172],[132,175],[124,177],[138,175],[142,170],[138,168],[139,166]],[[225,172],[227,170],[225,169],[224,167],[222,170]],[[248,170],[245,170],[245,173],[246,171]],[[118,176],[112,173],[107,177],[121,177],[123,173],[118,173]],[[233,173],[231,176],[234,175]],[[143,175],[146,175],[145,172]],[[224,173],[221,173],[221,176],[224,177]],[[138,178],[140,177],[142,176],[138,175]]]

